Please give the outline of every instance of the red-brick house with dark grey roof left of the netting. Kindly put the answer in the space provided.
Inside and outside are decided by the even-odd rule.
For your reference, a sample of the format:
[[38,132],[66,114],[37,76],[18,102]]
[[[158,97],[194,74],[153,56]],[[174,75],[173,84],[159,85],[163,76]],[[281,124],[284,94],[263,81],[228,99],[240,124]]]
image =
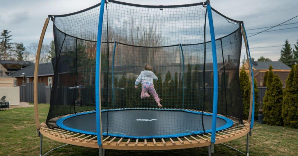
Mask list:
[[[27,66],[21,70],[10,73],[15,78],[15,86],[21,86],[27,82],[33,82],[35,65]],[[45,83],[46,86],[52,86],[54,79],[54,70],[52,63],[39,64],[38,83]]]

